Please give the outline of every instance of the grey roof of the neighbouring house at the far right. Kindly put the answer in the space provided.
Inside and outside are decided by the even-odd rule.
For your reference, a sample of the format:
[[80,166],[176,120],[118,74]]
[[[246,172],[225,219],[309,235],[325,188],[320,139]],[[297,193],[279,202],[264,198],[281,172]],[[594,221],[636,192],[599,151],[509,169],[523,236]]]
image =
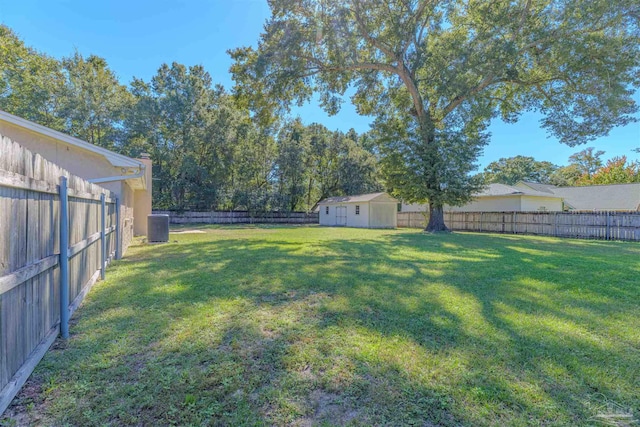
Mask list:
[[555,187],[523,181],[516,187],[562,197],[565,210],[640,211],[640,183]]

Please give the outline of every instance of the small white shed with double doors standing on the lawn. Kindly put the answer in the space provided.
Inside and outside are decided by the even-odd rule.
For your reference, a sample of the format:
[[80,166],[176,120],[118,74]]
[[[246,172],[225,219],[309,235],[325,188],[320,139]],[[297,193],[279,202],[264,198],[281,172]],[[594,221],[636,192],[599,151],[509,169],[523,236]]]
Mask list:
[[386,193],[329,197],[318,203],[320,225],[396,228],[398,200]]

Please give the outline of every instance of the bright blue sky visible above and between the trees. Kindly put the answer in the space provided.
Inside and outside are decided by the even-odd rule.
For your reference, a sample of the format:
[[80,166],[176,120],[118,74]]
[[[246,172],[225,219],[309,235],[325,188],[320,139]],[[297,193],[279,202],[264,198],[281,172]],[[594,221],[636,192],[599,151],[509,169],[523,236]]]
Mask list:
[[[123,83],[133,76],[148,80],[162,63],[177,61],[204,65],[215,82],[230,88],[231,60],[226,51],[255,45],[268,16],[266,0],[0,0],[0,22],[28,45],[58,58],[75,49],[102,56]],[[636,100],[640,102],[640,92]],[[348,101],[333,117],[315,103],[294,114],[305,123],[320,122],[330,129],[353,127],[364,132],[371,122],[358,116]],[[538,120],[534,114],[525,114],[517,124],[494,121],[481,167],[518,154],[566,164],[569,155],[584,148],[548,138]],[[639,159],[631,150],[640,146],[640,124],[616,128],[608,137],[586,146],[604,150],[606,158],[627,155]]]

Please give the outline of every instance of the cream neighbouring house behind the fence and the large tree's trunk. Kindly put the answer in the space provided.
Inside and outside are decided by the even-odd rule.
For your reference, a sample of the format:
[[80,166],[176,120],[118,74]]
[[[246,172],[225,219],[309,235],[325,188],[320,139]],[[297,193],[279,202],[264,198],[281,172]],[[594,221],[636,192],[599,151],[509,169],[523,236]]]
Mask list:
[[[425,205],[402,204],[402,212],[424,212]],[[561,211],[562,197],[532,188],[489,184],[463,206],[445,205],[447,212]]]

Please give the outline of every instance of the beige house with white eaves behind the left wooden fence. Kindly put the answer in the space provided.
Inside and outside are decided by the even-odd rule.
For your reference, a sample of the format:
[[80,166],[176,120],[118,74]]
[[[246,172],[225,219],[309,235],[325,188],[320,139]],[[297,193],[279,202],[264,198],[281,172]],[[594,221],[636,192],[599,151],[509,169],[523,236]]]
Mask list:
[[151,160],[132,159],[0,110],[0,135],[74,175],[116,193],[123,240],[147,234],[151,213]]

